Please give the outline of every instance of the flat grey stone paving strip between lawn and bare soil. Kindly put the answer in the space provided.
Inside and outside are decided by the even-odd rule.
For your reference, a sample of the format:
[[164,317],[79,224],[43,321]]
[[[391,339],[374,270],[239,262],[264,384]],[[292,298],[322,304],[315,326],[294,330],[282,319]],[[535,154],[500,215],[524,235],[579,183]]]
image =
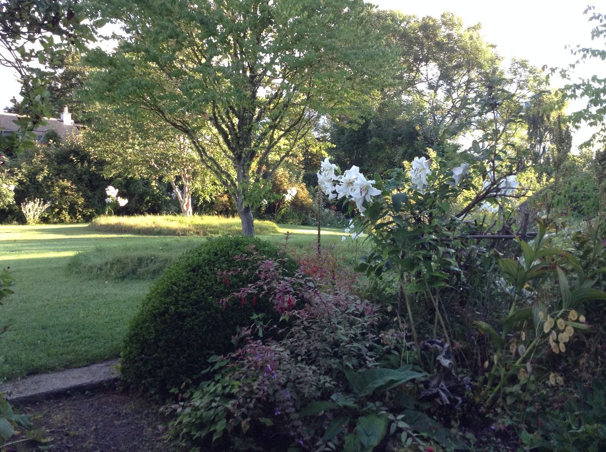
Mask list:
[[1,385],[0,393],[4,393],[8,401],[15,402],[24,399],[44,399],[75,389],[90,389],[116,381],[120,376],[116,365],[118,359],[110,359],[86,367],[32,375]]

